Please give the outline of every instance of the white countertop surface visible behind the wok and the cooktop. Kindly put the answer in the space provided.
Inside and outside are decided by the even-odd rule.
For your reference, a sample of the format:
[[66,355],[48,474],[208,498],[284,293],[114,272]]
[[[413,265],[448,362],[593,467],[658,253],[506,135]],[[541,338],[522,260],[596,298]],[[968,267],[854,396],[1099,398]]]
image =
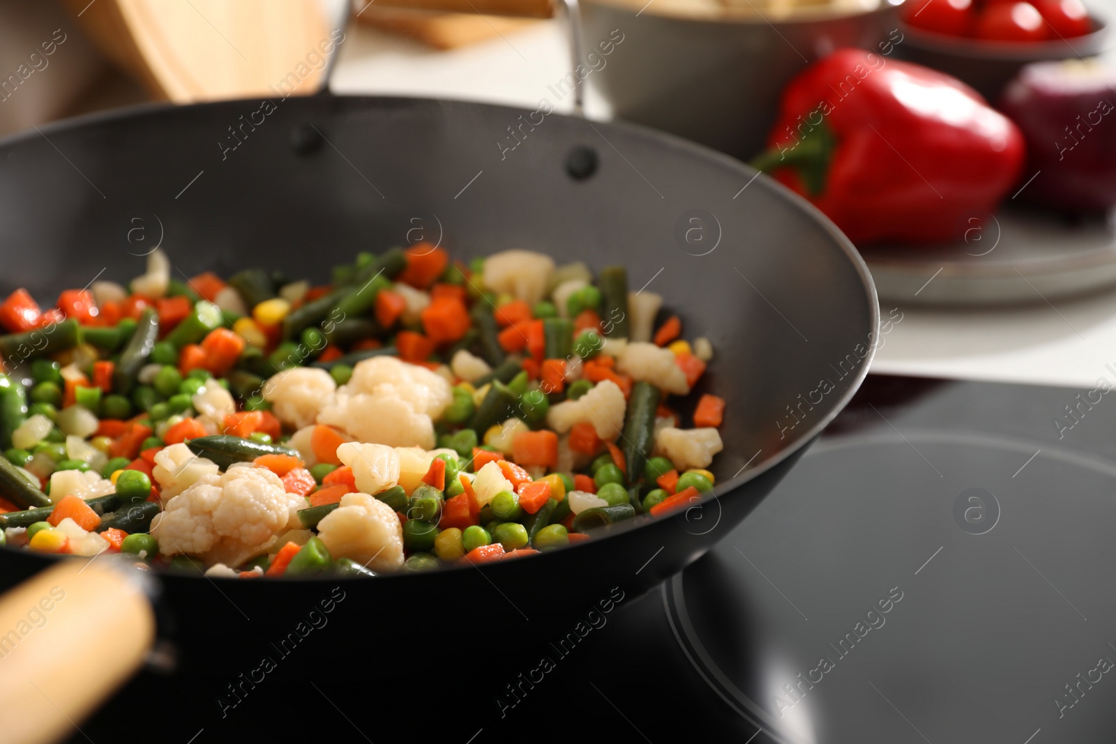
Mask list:
[[[1116,0],[1104,4],[1116,9]],[[568,60],[555,21],[452,51],[354,23],[331,87],[535,106],[547,85],[566,74]],[[569,102],[564,105],[559,110],[569,110]],[[607,116],[591,99],[587,110]],[[1087,387],[1104,376],[1116,386],[1116,292],[1052,306],[1039,300],[1010,309],[899,310],[902,321],[885,337],[874,371]]]

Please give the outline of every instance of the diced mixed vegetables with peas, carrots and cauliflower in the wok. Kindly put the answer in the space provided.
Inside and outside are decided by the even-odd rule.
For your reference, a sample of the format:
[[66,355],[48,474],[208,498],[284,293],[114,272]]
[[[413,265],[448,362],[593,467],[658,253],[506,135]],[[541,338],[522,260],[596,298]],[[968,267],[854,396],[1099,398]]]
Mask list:
[[712,357],[623,267],[421,243],[0,305],[0,542],[250,578],[520,557],[713,487]]

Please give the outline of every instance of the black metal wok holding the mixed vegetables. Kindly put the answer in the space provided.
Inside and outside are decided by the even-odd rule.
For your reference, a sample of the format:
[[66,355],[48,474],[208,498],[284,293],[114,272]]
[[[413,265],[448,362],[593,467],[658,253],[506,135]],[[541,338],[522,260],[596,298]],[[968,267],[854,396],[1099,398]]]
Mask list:
[[[0,144],[0,164],[4,292],[46,299],[98,276],[125,280],[156,243],[180,279],[264,265],[323,282],[358,250],[426,239],[463,259],[526,248],[559,263],[624,263],[633,289],[648,282],[689,338],[715,348],[681,407],[687,417],[701,393],[724,397],[725,450],[714,495],[684,513],[483,569],[341,582],[158,574],[160,634],[177,649],[175,674],[203,679],[192,688],[206,714],[232,715],[228,685],[275,656],[335,586],[336,635],[314,638],[323,649],[327,636],[360,640],[321,654],[385,675],[454,634],[481,648],[497,631],[500,648],[541,642],[609,597],[646,591],[756,508],[847,403],[874,350],[875,290],[828,220],[734,160],[634,126],[423,99],[238,100],[44,127]],[[8,549],[0,560],[4,587],[52,562]],[[407,642],[415,628],[436,640]],[[283,667],[321,660],[306,651]]]

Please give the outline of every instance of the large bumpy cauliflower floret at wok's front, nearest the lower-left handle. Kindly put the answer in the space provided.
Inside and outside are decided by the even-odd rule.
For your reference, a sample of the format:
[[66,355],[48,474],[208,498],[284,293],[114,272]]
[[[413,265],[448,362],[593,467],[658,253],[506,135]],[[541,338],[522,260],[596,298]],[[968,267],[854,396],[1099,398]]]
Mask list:
[[167,501],[151,533],[164,555],[190,553],[237,566],[287,530],[290,506],[282,481],[268,468],[230,467],[202,475]]

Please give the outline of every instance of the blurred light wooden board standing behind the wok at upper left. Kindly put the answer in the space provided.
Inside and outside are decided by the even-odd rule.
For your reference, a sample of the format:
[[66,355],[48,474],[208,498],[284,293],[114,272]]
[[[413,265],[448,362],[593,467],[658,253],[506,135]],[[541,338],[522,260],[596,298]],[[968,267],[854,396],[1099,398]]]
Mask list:
[[338,39],[319,0],[62,0],[113,61],[175,103],[315,93]]

